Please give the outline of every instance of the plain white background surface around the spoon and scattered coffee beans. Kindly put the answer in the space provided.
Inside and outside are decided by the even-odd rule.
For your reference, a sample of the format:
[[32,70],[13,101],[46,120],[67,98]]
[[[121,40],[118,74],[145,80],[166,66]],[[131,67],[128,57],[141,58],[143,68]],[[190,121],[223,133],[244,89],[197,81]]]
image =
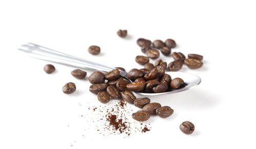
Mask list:
[[[1,1],[0,148],[255,148],[255,8],[253,1]],[[118,37],[119,29],[129,37]],[[134,60],[143,55],[136,44],[141,37],[172,38],[178,44],[173,52],[203,55],[202,68],[181,69],[202,83],[151,97],[175,113],[151,117],[150,132],[127,138],[83,132],[90,126],[81,115],[100,105],[89,92],[92,71],[77,80],[70,74],[74,67],[54,64],[56,72],[46,74],[48,62],[17,51],[34,42],[130,70],[143,67]],[[99,45],[101,54],[90,55],[90,45]],[[74,94],[62,93],[67,82],[76,83]],[[179,130],[185,120],[195,124],[191,135]]]

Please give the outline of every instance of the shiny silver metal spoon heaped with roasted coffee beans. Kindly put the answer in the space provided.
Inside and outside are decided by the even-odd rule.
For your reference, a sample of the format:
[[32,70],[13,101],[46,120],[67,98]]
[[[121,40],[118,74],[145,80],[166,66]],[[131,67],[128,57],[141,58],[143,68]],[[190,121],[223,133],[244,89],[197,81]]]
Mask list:
[[[20,48],[18,48],[20,51],[23,51],[29,56],[38,58],[41,60],[46,60],[50,62],[80,67],[80,68],[89,68],[93,70],[100,70],[103,72],[108,72],[110,70],[116,69],[114,67],[105,66],[99,63],[91,62],[88,60],[84,60],[78,57],[74,57],[65,53],[61,53],[58,51],[55,51],[53,49],[40,46],[34,43],[27,43],[22,45]],[[173,79],[174,78],[181,78],[186,83],[186,86],[180,89],[173,89],[172,91],[163,92],[163,93],[143,93],[143,92],[136,92],[137,94],[141,95],[162,95],[162,94],[169,94],[169,93],[176,93],[188,90],[190,88],[196,87],[200,84],[201,78],[190,73],[184,73],[184,72],[165,72],[169,74]],[[120,70],[120,76],[127,79],[128,81],[132,82],[127,78],[127,72]]]

